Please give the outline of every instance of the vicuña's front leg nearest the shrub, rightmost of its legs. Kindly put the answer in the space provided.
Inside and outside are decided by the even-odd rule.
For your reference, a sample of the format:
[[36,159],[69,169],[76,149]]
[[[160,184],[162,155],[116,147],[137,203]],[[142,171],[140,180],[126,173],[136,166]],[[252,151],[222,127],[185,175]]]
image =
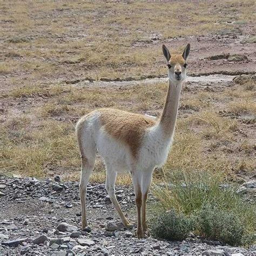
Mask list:
[[143,172],[143,177],[142,177],[142,228],[143,228],[144,234],[147,231],[146,200],[147,200],[147,194],[149,192],[149,187],[152,180],[152,173],[153,173],[153,169],[150,169],[147,172]]

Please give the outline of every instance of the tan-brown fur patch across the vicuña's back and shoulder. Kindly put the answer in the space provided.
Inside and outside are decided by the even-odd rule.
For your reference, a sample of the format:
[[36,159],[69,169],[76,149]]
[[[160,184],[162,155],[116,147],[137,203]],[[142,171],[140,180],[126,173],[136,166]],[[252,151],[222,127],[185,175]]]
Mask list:
[[100,109],[97,112],[100,113],[104,130],[113,138],[128,145],[132,156],[136,158],[146,128],[155,125],[156,121],[142,114],[116,109]]

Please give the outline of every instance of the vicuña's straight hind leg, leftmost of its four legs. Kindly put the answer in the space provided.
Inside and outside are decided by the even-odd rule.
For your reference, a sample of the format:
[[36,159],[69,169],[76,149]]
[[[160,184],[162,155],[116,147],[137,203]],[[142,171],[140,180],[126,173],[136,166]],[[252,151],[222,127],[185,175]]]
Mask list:
[[89,178],[91,172],[94,168],[94,161],[88,160],[86,157],[82,157],[82,170],[80,176],[80,200],[82,206],[82,228],[87,226],[87,219],[86,219],[86,191],[87,191],[87,184],[89,183]]

